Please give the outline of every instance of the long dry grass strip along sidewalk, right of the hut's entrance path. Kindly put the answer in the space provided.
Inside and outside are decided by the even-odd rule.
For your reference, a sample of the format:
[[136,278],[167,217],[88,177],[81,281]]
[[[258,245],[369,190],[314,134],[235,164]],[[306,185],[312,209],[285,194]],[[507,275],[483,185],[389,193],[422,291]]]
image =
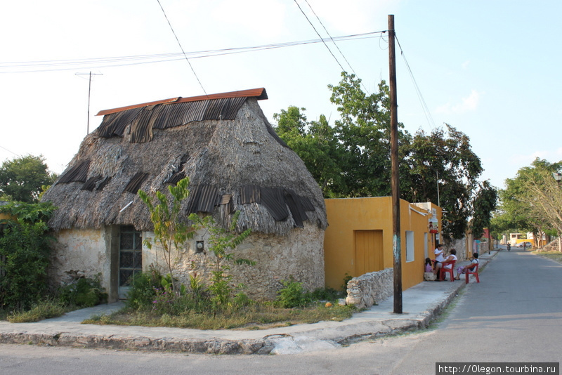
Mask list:
[[194,313],[190,310],[179,315],[157,315],[123,309],[111,315],[101,315],[86,320],[84,324],[119,324],[146,327],[178,327],[194,329],[266,329],[286,327],[293,324],[316,323],[323,320],[341,322],[357,311],[354,306],[324,303],[306,308],[278,308],[268,303],[253,303],[236,310],[226,309],[221,313]]

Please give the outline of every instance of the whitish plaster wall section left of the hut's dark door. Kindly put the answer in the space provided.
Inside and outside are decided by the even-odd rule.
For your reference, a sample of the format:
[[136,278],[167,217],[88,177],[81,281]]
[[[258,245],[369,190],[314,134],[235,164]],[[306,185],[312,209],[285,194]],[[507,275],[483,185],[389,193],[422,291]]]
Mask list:
[[110,290],[110,248],[105,230],[60,230],[55,237],[48,272],[53,287],[70,282],[74,272],[86,277],[101,272],[102,286]]

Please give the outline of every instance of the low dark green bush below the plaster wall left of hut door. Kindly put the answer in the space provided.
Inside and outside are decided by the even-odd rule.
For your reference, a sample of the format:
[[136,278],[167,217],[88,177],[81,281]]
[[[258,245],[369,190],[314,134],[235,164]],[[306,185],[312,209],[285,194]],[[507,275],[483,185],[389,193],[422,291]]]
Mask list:
[[61,303],[75,305],[79,308],[91,308],[107,302],[107,293],[101,287],[99,275],[93,279],[81,277],[72,284],[60,287],[58,297]]

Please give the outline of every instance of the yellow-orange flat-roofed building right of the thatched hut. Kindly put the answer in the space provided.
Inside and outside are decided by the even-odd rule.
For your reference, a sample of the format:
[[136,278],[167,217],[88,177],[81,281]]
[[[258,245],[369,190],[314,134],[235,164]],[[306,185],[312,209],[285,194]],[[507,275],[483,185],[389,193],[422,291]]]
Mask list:
[[[341,289],[344,277],[393,268],[392,198],[325,199],[329,226],[324,237],[326,286]],[[400,199],[403,289],[424,280],[433,258],[441,209]],[[430,226],[431,223],[431,226]]]

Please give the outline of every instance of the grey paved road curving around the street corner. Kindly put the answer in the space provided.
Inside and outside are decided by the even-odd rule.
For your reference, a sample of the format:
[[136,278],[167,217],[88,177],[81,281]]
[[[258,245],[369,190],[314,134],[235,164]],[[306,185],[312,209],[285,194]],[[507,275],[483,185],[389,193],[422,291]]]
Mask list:
[[560,362],[562,265],[500,252],[436,328],[300,355],[0,346],[2,374],[434,374],[435,362]]

